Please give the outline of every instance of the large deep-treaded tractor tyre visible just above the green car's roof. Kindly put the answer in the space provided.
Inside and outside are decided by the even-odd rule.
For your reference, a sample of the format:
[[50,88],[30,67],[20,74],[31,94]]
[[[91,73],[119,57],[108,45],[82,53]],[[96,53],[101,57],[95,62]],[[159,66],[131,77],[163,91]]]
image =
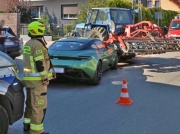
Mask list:
[[94,27],[89,35],[89,38],[98,38],[101,41],[106,41],[109,38],[108,32],[104,27]]

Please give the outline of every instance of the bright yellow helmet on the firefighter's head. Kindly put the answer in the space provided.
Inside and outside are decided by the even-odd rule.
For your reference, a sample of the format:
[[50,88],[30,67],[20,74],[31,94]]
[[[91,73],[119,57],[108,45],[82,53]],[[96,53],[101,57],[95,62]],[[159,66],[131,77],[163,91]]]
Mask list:
[[43,36],[45,26],[39,21],[33,21],[28,25],[28,34],[32,37]]

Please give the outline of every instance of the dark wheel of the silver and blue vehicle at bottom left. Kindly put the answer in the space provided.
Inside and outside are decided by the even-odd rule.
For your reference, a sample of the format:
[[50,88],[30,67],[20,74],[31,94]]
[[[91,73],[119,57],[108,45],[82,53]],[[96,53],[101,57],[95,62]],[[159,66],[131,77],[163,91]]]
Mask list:
[[7,134],[9,119],[6,110],[0,105],[0,134]]

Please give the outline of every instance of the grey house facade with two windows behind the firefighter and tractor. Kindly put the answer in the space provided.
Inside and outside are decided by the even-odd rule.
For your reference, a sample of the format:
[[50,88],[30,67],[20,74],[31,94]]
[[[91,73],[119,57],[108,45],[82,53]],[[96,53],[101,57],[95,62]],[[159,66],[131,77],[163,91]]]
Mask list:
[[50,19],[50,23],[59,25],[71,24],[77,19],[79,6],[88,0],[31,0],[32,18],[40,19],[40,15],[45,13]]

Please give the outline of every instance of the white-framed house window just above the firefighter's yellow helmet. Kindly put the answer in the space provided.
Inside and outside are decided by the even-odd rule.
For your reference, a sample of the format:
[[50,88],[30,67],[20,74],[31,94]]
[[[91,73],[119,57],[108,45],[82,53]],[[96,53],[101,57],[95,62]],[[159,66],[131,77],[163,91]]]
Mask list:
[[43,13],[43,6],[33,6],[31,8],[32,19],[40,19]]

